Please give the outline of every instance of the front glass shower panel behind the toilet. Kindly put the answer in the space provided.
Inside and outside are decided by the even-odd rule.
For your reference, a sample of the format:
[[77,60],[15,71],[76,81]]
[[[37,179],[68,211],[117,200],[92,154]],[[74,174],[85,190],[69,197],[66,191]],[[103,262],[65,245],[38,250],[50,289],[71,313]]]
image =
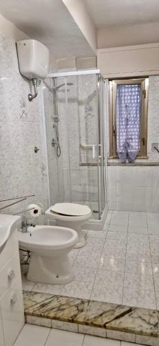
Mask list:
[[[96,75],[56,78],[64,200],[83,203],[98,219],[98,109]],[[61,87],[59,87],[61,86]]]

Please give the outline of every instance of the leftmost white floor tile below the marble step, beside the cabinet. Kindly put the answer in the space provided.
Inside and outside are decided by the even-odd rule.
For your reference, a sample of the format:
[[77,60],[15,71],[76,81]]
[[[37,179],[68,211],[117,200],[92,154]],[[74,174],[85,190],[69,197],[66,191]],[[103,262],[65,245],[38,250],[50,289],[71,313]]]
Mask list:
[[14,346],[44,346],[49,333],[50,328],[26,324]]

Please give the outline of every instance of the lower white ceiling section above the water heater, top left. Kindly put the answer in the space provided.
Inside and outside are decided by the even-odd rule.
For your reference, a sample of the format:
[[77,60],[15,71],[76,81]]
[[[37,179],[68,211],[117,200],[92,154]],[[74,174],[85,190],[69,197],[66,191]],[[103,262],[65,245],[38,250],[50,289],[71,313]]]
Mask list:
[[94,55],[61,0],[0,0],[0,13],[54,57]]

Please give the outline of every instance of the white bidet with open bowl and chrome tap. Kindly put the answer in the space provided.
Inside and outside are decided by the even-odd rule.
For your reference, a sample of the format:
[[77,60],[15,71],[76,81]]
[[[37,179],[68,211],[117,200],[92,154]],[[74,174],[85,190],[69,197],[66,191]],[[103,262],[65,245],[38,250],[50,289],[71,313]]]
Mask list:
[[19,246],[31,252],[28,280],[47,284],[67,284],[74,278],[68,257],[78,235],[71,228],[58,226],[29,227],[19,232]]

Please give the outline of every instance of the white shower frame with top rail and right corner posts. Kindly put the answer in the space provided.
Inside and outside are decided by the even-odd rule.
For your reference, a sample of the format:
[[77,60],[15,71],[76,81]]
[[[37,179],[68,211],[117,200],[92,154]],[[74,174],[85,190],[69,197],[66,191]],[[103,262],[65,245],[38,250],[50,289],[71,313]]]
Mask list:
[[[106,82],[100,70],[81,70],[49,73],[47,78],[67,78],[69,76],[96,75],[97,93],[97,175],[98,175],[98,220],[100,221],[107,207],[107,129],[106,129]],[[78,96],[78,95],[77,95]],[[88,163],[89,165],[89,163]],[[96,221],[98,221],[96,220]],[[92,219],[92,221],[95,221]]]

